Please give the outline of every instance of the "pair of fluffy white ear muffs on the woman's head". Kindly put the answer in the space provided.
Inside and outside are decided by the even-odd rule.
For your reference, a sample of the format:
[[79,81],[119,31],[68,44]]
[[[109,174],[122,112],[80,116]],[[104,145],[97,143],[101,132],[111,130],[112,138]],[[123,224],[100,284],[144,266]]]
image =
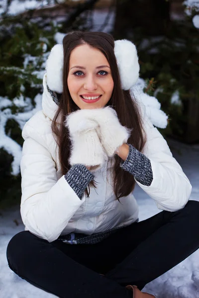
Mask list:
[[[130,89],[139,77],[139,63],[135,45],[126,39],[116,40],[114,53],[123,90]],[[55,45],[46,62],[48,87],[55,92],[63,92],[63,45]]]

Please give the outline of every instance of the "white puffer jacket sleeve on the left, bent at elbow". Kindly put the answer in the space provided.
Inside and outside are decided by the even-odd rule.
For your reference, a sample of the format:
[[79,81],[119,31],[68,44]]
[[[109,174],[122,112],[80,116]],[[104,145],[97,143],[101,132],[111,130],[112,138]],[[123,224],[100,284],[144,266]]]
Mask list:
[[52,242],[85,202],[68,184],[58,180],[56,164],[43,137],[26,125],[21,168],[21,217],[33,234]]

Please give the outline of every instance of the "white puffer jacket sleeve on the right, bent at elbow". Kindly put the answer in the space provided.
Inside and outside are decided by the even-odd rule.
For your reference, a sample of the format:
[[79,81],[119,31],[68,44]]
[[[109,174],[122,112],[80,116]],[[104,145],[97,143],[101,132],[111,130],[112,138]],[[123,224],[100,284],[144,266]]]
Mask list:
[[163,136],[153,126],[148,117],[144,121],[147,142],[143,149],[151,161],[153,180],[150,186],[137,184],[155,200],[158,209],[177,211],[185,207],[189,201],[192,185],[173,157]]

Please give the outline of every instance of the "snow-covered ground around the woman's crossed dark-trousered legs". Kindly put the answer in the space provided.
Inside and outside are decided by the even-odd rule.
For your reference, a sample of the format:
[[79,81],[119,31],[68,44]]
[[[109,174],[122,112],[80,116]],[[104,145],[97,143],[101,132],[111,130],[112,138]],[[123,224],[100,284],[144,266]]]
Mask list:
[[[168,144],[192,183],[190,199],[199,201],[199,145],[188,146],[172,140],[169,140]],[[161,212],[138,185],[134,193],[140,208],[140,220]],[[0,298],[53,298],[54,295],[20,279],[7,266],[7,243],[14,234],[23,229],[19,207],[0,214]],[[199,298],[199,250],[149,283],[143,291],[154,293],[158,298]]]

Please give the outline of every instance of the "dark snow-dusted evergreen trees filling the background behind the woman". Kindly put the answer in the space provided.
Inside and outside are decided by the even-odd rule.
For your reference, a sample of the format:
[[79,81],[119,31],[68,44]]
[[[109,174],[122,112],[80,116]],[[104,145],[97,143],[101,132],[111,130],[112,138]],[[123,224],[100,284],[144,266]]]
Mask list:
[[21,130],[41,109],[49,51],[78,29],[133,41],[145,92],[169,116],[160,132],[199,143],[197,0],[0,0],[0,208],[20,202]]

